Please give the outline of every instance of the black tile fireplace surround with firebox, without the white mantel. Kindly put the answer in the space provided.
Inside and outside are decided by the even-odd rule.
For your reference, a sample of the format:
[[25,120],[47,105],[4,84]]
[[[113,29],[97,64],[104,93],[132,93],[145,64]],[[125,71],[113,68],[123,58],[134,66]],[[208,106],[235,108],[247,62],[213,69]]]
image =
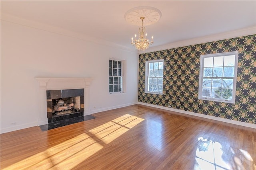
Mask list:
[[46,98],[49,123],[84,115],[84,89],[47,90]]

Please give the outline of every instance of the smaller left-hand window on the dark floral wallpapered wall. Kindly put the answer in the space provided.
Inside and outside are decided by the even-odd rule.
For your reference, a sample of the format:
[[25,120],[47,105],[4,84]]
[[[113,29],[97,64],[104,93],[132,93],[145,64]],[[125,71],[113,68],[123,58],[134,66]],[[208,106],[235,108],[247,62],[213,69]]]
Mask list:
[[163,93],[164,60],[146,61],[145,93]]

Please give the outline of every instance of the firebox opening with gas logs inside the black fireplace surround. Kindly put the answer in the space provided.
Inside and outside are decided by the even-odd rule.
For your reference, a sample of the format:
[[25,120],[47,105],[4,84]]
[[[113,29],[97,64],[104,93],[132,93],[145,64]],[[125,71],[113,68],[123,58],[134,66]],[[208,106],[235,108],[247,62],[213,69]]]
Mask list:
[[80,112],[80,96],[52,99],[52,117]]

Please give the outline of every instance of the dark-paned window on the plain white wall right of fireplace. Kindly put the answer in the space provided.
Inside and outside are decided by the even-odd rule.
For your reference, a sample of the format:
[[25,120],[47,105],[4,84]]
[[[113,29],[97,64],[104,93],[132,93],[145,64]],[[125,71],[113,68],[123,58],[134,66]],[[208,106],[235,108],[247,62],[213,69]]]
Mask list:
[[123,66],[124,61],[108,60],[108,92],[123,92]]

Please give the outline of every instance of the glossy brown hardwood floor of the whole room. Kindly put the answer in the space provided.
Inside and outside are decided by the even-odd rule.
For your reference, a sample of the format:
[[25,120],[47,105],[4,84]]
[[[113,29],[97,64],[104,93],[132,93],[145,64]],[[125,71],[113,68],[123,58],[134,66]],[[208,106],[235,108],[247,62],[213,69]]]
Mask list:
[[133,105],[1,134],[1,169],[256,169],[256,129]]

